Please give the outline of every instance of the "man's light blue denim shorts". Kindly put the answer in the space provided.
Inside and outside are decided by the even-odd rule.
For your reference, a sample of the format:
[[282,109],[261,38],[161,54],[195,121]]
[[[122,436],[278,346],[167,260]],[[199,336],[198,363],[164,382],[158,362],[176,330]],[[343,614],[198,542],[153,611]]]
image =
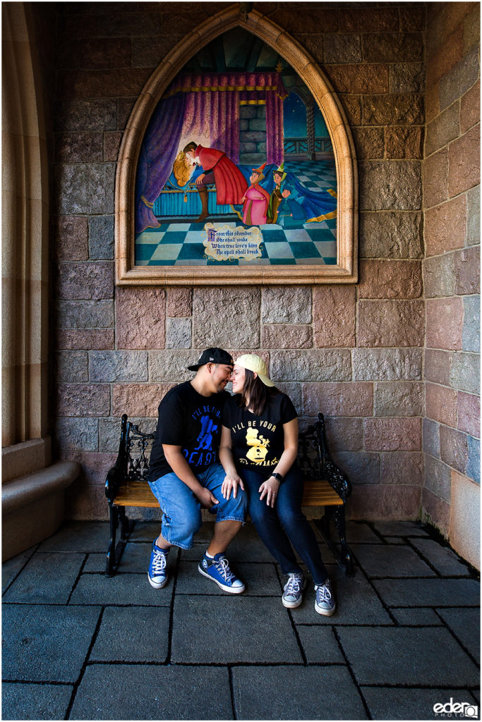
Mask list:
[[[221,493],[225,475],[220,464],[211,464],[205,471],[196,474],[199,484],[209,489],[219,501],[212,508],[215,521],[244,521],[248,503],[246,494],[238,489],[236,499],[232,494],[230,499],[225,499]],[[197,496],[173,471],[155,482],[149,482],[149,486],[163,510],[161,532],[165,541],[181,549],[191,549],[194,534],[202,524],[201,504]]]

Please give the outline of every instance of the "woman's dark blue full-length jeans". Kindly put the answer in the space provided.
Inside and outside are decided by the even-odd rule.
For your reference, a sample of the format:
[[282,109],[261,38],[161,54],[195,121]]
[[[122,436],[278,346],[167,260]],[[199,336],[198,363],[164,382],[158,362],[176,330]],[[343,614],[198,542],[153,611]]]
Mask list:
[[[266,503],[266,497],[259,500],[259,487],[267,478],[267,471],[251,471],[238,468],[249,497],[249,516],[256,526],[264,545],[279,563],[283,573],[301,573],[296,562],[293,547],[309,568],[315,584],[323,584],[328,573],[322,562],[317,538],[306,516],[301,511],[303,497],[303,476],[301,471],[291,468],[280,484],[274,508]],[[290,544],[291,542],[291,544]]]

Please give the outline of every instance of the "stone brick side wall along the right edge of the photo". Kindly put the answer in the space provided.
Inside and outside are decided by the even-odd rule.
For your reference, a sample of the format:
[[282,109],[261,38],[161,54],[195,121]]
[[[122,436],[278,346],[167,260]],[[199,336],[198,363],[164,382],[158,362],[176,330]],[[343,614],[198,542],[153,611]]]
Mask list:
[[480,484],[479,14],[434,3],[427,27],[423,510],[451,537]]

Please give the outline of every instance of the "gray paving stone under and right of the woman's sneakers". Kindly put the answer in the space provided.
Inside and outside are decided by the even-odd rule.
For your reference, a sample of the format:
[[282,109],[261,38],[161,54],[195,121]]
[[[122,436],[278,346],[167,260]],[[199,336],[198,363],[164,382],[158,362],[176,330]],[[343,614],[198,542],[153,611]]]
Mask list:
[[328,569],[335,592],[337,609],[332,617],[317,614],[314,609],[314,586],[309,580],[301,606],[292,610],[296,624],[392,625],[390,614],[384,609],[374,589],[361,573],[345,576],[340,567]]

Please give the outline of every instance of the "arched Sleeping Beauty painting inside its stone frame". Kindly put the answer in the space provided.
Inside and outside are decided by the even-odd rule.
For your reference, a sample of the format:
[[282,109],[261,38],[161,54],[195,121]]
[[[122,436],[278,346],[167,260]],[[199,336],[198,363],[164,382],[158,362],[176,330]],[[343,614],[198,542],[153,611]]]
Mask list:
[[327,125],[286,61],[237,28],[184,66],[137,165],[135,265],[337,263]]

